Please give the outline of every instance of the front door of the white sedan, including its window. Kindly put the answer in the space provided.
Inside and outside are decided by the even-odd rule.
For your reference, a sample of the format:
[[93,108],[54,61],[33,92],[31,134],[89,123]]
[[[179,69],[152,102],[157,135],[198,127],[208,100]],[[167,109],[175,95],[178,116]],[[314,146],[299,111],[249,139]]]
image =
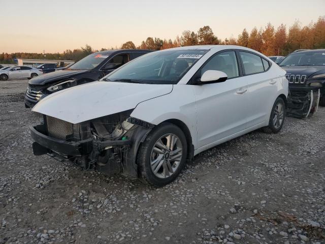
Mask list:
[[248,86],[247,80],[240,76],[235,51],[212,56],[198,72],[202,75],[207,70],[222,71],[228,75],[228,79],[220,83],[193,85],[199,147],[247,128]]

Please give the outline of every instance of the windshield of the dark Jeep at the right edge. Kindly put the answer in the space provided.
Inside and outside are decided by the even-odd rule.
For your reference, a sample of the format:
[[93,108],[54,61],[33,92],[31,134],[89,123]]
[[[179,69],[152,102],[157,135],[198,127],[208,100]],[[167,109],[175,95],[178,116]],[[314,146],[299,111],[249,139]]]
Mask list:
[[325,65],[325,52],[296,52],[288,55],[280,66]]

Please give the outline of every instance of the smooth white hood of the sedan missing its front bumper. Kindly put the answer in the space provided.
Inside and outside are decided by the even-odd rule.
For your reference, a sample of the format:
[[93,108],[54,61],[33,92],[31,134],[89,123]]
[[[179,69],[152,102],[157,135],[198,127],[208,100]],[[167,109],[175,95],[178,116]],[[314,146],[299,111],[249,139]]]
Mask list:
[[77,124],[133,109],[143,101],[171,93],[172,89],[172,84],[95,81],[53,93],[32,111]]

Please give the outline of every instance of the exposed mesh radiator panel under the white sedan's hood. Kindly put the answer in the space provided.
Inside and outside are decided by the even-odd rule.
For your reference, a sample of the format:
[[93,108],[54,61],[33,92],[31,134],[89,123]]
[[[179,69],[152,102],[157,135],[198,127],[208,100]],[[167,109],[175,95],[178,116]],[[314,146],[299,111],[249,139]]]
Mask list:
[[51,116],[46,116],[47,131],[50,137],[66,140],[73,133],[72,124]]

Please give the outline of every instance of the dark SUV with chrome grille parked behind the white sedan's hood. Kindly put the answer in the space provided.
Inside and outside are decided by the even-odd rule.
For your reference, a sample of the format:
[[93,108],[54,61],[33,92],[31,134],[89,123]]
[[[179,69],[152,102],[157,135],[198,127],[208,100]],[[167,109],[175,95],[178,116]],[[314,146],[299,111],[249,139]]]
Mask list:
[[42,98],[58,90],[99,80],[113,70],[143,54],[145,49],[120,49],[92,53],[68,69],[32,78],[25,94],[25,107],[34,107]]

